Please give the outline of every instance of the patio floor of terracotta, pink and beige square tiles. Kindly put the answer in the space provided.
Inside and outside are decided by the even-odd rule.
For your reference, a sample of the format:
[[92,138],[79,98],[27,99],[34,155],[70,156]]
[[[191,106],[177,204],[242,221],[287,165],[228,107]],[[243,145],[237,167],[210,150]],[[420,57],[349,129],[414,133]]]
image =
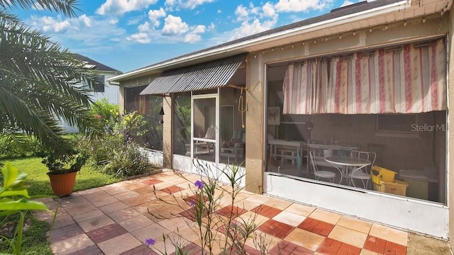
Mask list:
[[[162,234],[177,237],[178,232],[187,249],[201,254],[193,231],[192,210],[187,209],[194,200],[188,198],[193,194],[189,187],[197,176],[183,175],[192,181],[182,181],[172,171],[163,171],[65,198],[43,199],[52,209],[60,204],[57,225],[50,237],[52,250],[55,254],[74,255],[160,254],[166,246],[171,254],[175,248],[162,242]],[[175,199],[182,208],[159,202],[153,185],[161,198]],[[259,225],[256,234],[265,234],[270,244],[268,254],[407,254],[407,246],[411,245],[408,232],[374,222],[266,195],[243,192],[238,198],[233,211],[238,219],[255,217]],[[221,208],[218,217],[231,209],[230,205]],[[49,213],[35,215],[41,220],[52,220]],[[225,226],[213,230],[223,237]],[[154,238],[156,244],[146,246],[147,238]],[[221,246],[217,245],[214,251],[220,252]],[[246,247],[249,254],[260,254],[253,241],[248,240]]]

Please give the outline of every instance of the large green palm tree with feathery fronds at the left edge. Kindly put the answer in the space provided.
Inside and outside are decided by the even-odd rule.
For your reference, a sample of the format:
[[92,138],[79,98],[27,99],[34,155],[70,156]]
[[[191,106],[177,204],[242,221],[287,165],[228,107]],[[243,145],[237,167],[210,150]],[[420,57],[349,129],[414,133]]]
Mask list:
[[60,119],[81,132],[93,130],[87,91],[71,86],[91,74],[71,52],[32,30],[12,10],[41,8],[76,16],[76,0],[0,0],[0,135],[25,132],[51,152],[66,152]]

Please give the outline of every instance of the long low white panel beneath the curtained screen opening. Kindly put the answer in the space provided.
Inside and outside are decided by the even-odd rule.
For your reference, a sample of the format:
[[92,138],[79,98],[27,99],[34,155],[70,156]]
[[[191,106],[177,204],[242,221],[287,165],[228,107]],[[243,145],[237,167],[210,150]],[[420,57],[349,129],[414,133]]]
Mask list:
[[448,239],[448,208],[422,201],[362,193],[265,173],[265,193],[384,225]]

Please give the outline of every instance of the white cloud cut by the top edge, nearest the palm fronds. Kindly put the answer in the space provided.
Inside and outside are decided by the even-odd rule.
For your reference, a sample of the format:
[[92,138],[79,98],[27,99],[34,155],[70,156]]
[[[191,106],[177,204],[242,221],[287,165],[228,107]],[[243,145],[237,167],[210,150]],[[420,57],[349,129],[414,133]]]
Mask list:
[[123,15],[128,11],[138,11],[148,8],[150,4],[156,4],[157,0],[107,0],[96,10],[100,15]]

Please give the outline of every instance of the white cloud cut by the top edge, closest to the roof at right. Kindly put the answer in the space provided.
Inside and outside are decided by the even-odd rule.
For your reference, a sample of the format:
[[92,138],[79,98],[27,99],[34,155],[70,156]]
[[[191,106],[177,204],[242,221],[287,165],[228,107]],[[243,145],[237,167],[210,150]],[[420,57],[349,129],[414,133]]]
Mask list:
[[297,12],[309,10],[322,10],[333,4],[333,0],[279,0],[275,4],[277,11]]

